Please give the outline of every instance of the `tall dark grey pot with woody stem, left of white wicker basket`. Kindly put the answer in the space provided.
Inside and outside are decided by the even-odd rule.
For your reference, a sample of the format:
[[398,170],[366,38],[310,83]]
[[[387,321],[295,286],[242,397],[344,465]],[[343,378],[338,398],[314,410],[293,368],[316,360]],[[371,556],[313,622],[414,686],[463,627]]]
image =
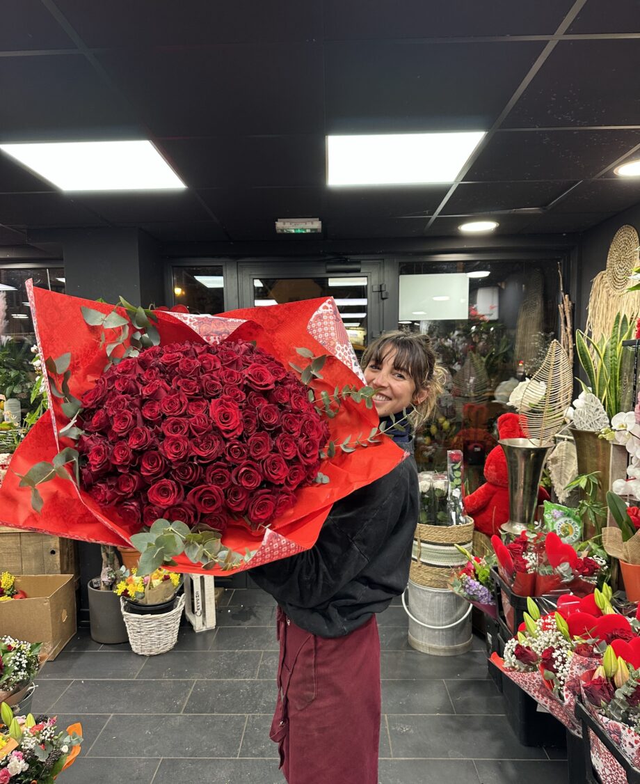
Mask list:
[[120,601],[114,594],[120,563],[116,548],[101,546],[103,568],[98,577],[89,580],[89,622],[91,637],[96,642],[116,644],[127,641],[127,630],[120,612]]

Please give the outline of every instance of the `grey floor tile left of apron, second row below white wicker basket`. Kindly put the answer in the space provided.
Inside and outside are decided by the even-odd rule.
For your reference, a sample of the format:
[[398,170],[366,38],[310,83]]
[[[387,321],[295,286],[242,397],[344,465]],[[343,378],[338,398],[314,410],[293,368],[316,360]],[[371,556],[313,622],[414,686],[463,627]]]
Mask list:
[[269,713],[276,681],[196,681],[183,713]]

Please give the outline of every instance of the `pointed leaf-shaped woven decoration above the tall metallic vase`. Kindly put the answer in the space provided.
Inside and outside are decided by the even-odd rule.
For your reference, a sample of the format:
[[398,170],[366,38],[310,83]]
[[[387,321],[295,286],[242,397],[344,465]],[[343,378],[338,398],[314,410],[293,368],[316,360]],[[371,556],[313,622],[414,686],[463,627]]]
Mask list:
[[[541,392],[541,385],[544,390]],[[551,444],[565,423],[571,405],[573,372],[566,351],[552,340],[540,368],[522,394],[518,416],[526,437],[538,446]]]

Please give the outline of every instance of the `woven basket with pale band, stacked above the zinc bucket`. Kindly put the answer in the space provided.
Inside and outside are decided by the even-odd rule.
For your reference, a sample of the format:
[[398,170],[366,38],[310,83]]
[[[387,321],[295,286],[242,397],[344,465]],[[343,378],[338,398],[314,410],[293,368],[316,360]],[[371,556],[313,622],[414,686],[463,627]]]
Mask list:
[[[470,518],[467,518],[470,519]],[[473,521],[465,525],[418,524],[409,577],[420,586],[447,588],[451,570],[462,568],[467,559],[455,545],[472,549]]]

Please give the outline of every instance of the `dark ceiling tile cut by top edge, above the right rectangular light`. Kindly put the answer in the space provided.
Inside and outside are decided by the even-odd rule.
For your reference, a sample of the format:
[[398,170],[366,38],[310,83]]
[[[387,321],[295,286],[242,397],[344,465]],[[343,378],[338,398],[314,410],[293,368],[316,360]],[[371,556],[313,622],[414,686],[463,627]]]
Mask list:
[[[79,0],[78,0],[79,2]],[[324,0],[325,38],[450,38],[556,31],[573,0]]]

